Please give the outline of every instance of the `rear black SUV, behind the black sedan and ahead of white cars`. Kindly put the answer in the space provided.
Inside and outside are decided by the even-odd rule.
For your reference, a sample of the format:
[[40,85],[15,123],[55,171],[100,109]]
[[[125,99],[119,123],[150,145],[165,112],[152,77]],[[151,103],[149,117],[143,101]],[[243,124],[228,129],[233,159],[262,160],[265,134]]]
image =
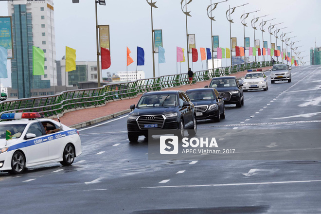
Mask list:
[[244,105],[242,86],[235,76],[214,77],[210,83],[210,88],[215,88],[223,96],[224,105],[236,104],[236,107]]

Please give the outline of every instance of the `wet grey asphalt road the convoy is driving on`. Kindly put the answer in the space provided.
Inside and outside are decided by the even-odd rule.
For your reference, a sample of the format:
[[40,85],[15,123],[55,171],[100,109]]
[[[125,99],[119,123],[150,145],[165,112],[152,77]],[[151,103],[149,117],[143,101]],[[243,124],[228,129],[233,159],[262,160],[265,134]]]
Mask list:
[[[198,129],[219,129],[218,144],[235,146],[231,135],[244,129],[320,130],[320,76],[321,66],[294,68],[291,83],[269,81],[267,91],[245,92],[243,107],[226,106],[225,120],[200,121]],[[313,160],[148,160],[148,141],[129,143],[126,119],[79,129],[83,154],[69,167],[0,173],[1,213],[321,213],[321,149]],[[288,142],[287,135],[261,141],[249,133],[249,149],[268,152]],[[291,141],[294,148],[309,143]]]

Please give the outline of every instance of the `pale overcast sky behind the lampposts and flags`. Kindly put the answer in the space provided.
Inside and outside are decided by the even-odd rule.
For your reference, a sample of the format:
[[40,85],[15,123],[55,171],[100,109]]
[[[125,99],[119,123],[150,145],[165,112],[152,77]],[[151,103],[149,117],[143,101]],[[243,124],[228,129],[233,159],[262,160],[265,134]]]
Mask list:
[[[222,0],[212,0],[212,3]],[[150,0],[149,0],[150,2]],[[191,11],[192,17],[188,17],[188,33],[196,35],[196,48],[211,48],[211,20],[208,18],[206,8],[211,0],[193,0],[188,4],[187,10]],[[138,70],[145,71],[145,77],[153,77],[152,63],[152,38],[151,38],[151,10],[146,0],[106,0],[107,5],[98,6],[98,24],[110,25],[110,52],[111,67],[102,71],[103,77],[107,71],[116,73],[126,71],[126,46],[131,50],[134,63],[128,66],[128,71],[136,71],[137,46],[145,51],[145,65],[139,66]],[[277,25],[278,28],[287,27],[283,31],[293,33],[288,36],[297,36],[292,41],[301,40],[296,43],[300,51],[305,51],[301,56],[309,55],[309,49],[320,45],[321,28],[318,22],[321,20],[321,0],[229,0],[219,3],[213,12],[216,21],[213,21],[213,35],[219,36],[219,45],[222,48],[230,47],[230,26],[225,12],[231,7],[249,3],[243,7],[236,8],[232,14],[232,37],[237,37],[237,45],[243,44],[243,25],[240,17],[245,13],[261,9],[261,11],[250,14],[246,19],[248,27],[245,28],[245,36],[250,37],[250,46],[254,46],[253,28],[250,20],[255,16],[265,16],[263,20],[276,18],[272,24],[284,22]],[[177,72],[176,47],[186,49],[186,23],[185,15],[181,11],[180,0],[157,0],[158,8],[153,8],[154,29],[162,29],[163,48],[165,49],[166,63],[160,64],[160,75],[175,74]],[[6,1],[0,1],[0,16],[8,16]],[[261,19],[260,19],[261,21]],[[72,0],[54,0],[54,22],[56,59],[65,55],[65,46],[76,49],[77,61],[96,61],[96,31],[95,31],[95,4],[94,0],[80,0],[80,3],[72,3]],[[265,30],[267,32],[267,23]],[[280,32],[281,32],[280,31]],[[279,34],[280,35],[280,34]],[[260,39],[262,47],[262,31],[255,32],[256,39]],[[272,43],[275,43],[272,36]],[[264,33],[264,40],[270,43],[270,36]],[[278,45],[281,40],[278,39]],[[268,45],[269,46],[269,45]],[[285,45],[284,45],[285,46]],[[285,47],[284,47],[285,48]],[[185,52],[185,57],[186,52]],[[206,68],[205,60],[193,64],[194,71]],[[263,60],[260,59],[260,60]],[[309,61],[309,56],[303,61]],[[8,69],[10,70],[10,60]],[[225,60],[222,61],[225,66]],[[228,65],[229,61],[228,61]],[[307,63],[306,65],[309,65]],[[155,71],[158,75],[158,54],[155,54]],[[190,54],[190,67],[192,68],[192,55]],[[181,71],[187,72],[187,62],[181,63]],[[179,64],[178,64],[179,72]],[[9,78],[1,79],[4,86],[11,86],[11,75]]]

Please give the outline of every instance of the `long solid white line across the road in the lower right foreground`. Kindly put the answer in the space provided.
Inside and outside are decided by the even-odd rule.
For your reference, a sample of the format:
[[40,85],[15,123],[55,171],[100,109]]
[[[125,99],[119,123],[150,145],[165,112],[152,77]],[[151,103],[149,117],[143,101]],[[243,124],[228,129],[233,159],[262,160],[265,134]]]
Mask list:
[[321,182],[321,180],[295,180],[295,181],[275,181],[275,182],[256,182],[256,183],[222,183],[222,184],[182,185],[182,186],[152,186],[152,187],[141,187],[140,189],[173,188],[173,187],[243,186],[243,185],[285,184],[285,183],[310,183],[310,182]]

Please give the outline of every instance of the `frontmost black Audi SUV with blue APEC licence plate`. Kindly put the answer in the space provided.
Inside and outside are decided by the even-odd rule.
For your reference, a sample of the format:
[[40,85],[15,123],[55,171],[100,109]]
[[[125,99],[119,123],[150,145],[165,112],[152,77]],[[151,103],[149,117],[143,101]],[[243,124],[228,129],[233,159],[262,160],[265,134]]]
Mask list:
[[178,137],[196,134],[196,111],[184,91],[155,91],[144,93],[137,106],[128,115],[127,132],[130,142],[140,135],[148,136],[149,129],[180,130]]

